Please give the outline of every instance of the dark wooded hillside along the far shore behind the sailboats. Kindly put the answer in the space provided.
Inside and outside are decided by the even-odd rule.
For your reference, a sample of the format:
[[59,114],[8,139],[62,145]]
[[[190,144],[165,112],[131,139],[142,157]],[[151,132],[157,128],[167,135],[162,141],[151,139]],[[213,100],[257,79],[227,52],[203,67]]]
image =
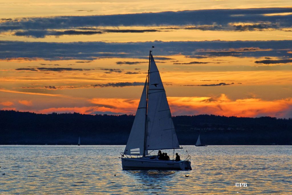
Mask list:
[[[133,115],[35,114],[0,111],[0,144],[126,144]],[[175,116],[181,145],[292,145],[292,119]]]

